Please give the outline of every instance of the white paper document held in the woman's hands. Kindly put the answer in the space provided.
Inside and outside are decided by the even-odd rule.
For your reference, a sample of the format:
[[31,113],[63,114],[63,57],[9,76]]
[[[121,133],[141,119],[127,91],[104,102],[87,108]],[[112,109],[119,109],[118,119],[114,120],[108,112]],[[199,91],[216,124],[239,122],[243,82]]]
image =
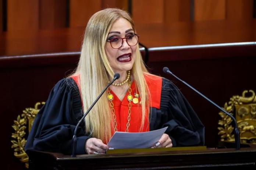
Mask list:
[[150,148],[155,145],[167,127],[150,132],[115,132],[109,143],[110,149]]

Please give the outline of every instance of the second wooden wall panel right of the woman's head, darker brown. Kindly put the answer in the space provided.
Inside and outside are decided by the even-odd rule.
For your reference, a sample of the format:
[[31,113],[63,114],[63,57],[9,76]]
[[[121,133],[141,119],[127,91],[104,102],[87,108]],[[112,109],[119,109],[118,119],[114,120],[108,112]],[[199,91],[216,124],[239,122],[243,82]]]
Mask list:
[[190,21],[191,0],[165,0],[164,21],[173,23],[178,21]]

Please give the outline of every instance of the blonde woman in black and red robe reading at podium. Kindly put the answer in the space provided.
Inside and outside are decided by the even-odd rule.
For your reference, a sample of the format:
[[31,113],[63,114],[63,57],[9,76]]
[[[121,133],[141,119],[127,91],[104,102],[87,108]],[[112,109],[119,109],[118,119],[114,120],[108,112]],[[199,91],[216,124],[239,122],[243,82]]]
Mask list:
[[204,127],[181,92],[148,73],[134,22],[125,11],[108,8],[86,26],[77,70],[59,81],[36,117],[26,150],[70,154],[75,125],[114,73],[120,78],[100,98],[79,127],[77,154],[105,153],[115,131],[146,132],[168,127],[152,147],[204,144]]

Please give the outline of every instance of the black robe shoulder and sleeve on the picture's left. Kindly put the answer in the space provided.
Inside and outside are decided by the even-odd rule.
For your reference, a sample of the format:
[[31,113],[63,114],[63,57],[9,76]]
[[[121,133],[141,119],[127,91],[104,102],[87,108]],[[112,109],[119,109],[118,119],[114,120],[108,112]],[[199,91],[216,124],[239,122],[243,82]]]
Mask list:
[[[71,154],[75,126],[82,117],[78,86],[72,78],[60,80],[51,90],[29,133],[25,150]],[[84,123],[77,130],[77,154],[85,153]]]

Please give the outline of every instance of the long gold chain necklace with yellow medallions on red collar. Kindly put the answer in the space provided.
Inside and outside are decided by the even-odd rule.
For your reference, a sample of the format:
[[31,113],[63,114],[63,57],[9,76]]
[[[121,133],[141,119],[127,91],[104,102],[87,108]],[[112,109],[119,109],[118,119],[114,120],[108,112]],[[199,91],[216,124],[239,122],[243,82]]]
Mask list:
[[[129,131],[130,120],[131,120],[131,107],[132,107],[131,101],[133,99],[133,97],[131,95],[131,92],[132,92],[131,82],[129,81],[128,84],[129,84],[129,89],[128,89],[129,95],[127,96],[127,100],[129,101],[129,104],[128,104],[128,117],[127,117],[127,123],[126,123],[126,130],[125,130],[125,132]],[[114,103],[112,101],[114,99],[114,96],[110,93],[110,88],[108,88],[107,98],[110,101],[111,112],[112,112],[112,115],[113,115],[113,118],[114,118],[114,131],[117,132],[117,117],[115,116]]]

